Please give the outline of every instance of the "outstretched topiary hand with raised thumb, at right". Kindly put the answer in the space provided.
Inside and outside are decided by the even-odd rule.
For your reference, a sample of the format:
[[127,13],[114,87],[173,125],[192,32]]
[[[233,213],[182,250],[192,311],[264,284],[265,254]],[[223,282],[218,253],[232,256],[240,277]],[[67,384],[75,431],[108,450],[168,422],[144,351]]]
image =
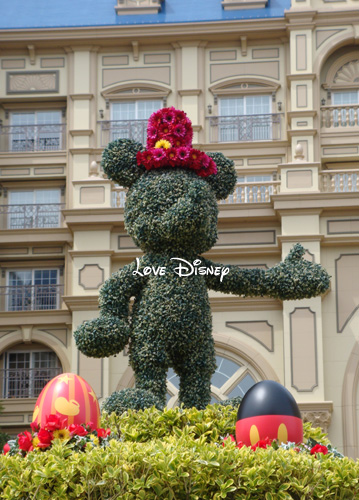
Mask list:
[[283,262],[265,272],[265,295],[297,300],[316,297],[328,290],[329,274],[321,265],[303,259],[304,253],[302,245],[297,243]]

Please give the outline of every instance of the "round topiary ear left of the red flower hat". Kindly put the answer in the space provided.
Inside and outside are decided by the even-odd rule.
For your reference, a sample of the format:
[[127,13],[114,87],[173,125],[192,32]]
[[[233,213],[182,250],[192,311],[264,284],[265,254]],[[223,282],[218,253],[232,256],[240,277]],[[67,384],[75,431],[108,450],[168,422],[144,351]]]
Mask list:
[[132,139],[116,139],[102,153],[101,165],[107,177],[121,186],[130,187],[144,173],[137,165],[136,155],[144,148]]

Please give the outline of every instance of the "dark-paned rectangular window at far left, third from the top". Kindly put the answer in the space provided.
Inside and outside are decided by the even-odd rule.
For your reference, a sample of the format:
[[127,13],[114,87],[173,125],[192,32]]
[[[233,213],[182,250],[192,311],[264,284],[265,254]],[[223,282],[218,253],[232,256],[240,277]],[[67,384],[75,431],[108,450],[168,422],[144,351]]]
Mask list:
[[60,286],[57,269],[8,271],[7,311],[58,309]]

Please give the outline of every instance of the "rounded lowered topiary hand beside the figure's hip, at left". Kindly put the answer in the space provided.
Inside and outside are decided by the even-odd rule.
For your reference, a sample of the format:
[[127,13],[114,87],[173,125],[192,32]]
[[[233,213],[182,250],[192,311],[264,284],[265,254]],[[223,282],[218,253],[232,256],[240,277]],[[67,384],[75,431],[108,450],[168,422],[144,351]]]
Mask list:
[[77,348],[91,358],[104,358],[117,354],[128,343],[130,327],[127,320],[103,314],[85,321],[74,332]]

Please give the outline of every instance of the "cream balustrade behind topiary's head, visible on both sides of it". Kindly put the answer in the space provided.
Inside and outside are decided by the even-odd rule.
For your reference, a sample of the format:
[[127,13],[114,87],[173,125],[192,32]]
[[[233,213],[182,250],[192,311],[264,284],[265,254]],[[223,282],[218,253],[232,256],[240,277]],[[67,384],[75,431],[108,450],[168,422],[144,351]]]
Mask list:
[[[279,192],[280,181],[263,182],[239,182],[236,184],[234,193],[220,204],[230,205],[232,203],[268,203],[272,195]],[[124,208],[126,202],[126,189],[117,187],[112,192],[112,206]]]

